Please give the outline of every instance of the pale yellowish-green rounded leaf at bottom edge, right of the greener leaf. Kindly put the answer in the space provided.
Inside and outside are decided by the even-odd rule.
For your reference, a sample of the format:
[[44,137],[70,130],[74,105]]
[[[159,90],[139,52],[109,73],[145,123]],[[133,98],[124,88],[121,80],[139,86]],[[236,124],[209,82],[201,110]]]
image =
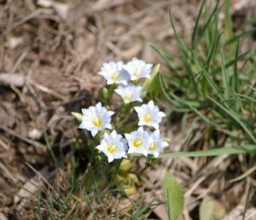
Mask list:
[[218,220],[224,216],[224,213],[224,207],[210,196],[206,196],[199,207],[200,220]]

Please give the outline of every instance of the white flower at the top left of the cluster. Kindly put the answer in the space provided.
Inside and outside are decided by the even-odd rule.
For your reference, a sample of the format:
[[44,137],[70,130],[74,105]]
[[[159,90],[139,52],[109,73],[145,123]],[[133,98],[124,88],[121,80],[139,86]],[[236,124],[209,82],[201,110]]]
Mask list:
[[98,74],[102,75],[107,80],[107,84],[127,84],[130,76],[123,70],[123,62],[104,62],[101,71]]

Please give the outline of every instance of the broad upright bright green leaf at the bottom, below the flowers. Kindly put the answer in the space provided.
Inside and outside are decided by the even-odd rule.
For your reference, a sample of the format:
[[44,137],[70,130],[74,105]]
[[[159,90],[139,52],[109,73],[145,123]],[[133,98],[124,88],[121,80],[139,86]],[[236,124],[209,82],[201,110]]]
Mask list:
[[183,211],[184,197],[181,186],[171,173],[164,178],[164,194],[169,220],[177,220]]

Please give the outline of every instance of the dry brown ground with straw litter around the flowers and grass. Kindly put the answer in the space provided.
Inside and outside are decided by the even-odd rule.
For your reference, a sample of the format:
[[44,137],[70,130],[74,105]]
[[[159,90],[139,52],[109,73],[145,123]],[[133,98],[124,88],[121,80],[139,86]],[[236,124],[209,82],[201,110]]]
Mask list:
[[[244,2],[233,1],[234,11],[242,13]],[[53,148],[70,146],[77,133],[71,112],[96,102],[103,84],[96,72],[103,61],[137,56],[160,62],[149,41],[177,51],[170,9],[177,31],[189,39],[199,9],[196,0],[0,0],[1,220],[27,219],[20,196],[28,195],[20,189],[35,176],[31,167],[49,178],[54,175],[48,170],[46,140]],[[185,132],[166,122],[166,136],[172,139],[172,151],[177,151]],[[230,211],[246,200],[248,182],[227,181],[236,177],[236,165],[243,160],[227,156],[210,161],[162,160],[147,171],[144,187],[154,190],[146,200],[160,194],[165,171],[172,171],[185,192],[183,219],[193,218],[190,212],[206,194]],[[251,219],[256,219],[252,211]],[[155,214],[166,219],[163,206]]]

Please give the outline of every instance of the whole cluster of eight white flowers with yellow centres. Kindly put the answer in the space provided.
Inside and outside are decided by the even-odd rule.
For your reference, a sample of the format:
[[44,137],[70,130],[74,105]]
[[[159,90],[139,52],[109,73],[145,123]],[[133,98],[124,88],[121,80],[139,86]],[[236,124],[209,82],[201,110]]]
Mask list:
[[[115,85],[114,90],[125,104],[133,101],[143,102],[142,90],[139,86],[141,78],[151,78],[152,64],[133,58],[127,64],[122,61],[103,63],[98,72],[107,80],[107,84]],[[139,119],[137,130],[130,134],[117,134],[116,130],[105,132],[100,145],[96,148],[108,157],[108,162],[113,159],[127,158],[127,153],[148,154],[158,157],[168,143],[160,136],[159,124],[165,113],[160,112],[154,101],[134,107]],[[82,109],[83,117],[79,128],[90,130],[92,136],[101,130],[111,129],[111,119],[114,114],[99,102],[95,107]],[[148,130],[144,130],[147,127]],[[154,131],[150,131],[153,128]],[[124,136],[122,136],[124,135]]]

